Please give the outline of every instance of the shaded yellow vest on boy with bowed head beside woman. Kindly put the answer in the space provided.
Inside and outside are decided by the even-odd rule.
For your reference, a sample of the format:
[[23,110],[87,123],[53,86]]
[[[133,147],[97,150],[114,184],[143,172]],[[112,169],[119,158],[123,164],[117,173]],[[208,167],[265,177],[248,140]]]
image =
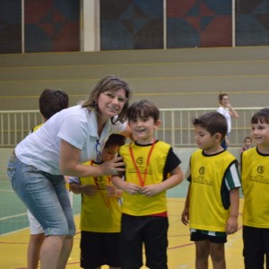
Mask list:
[[[88,162],[90,165],[90,162]],[[119,232],[121,208],[117,197],[108,197],[108,176],[80,178],[81,185],[98,185],[95,195],[82,195],[81,230],[93,232]]]

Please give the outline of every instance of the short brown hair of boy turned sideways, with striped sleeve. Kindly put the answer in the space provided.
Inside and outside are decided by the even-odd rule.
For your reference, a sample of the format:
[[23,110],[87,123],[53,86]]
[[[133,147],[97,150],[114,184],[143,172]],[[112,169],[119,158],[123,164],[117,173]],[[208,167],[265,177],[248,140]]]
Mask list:
[[227,120],[219,112],[208,112],[200,117],[195,117],[193,119],[193,125],[201,126],[211,135],[220,133],[221,140],[224,139],[228,130]]

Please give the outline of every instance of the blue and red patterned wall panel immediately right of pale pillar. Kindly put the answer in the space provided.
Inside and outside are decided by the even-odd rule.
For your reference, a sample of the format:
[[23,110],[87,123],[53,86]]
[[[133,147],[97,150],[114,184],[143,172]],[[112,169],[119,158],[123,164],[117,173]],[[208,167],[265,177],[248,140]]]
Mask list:
[[100,0],[100,48],[163,48],[163,1]]

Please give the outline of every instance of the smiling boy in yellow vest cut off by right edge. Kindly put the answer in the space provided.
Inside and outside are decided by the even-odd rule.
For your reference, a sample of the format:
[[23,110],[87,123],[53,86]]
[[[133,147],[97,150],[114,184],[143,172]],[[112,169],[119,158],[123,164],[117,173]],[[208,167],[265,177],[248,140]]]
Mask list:
[[243,255],[246,269],[264,269],[269,267],[269,108],[251,118],[251,136],[256,147],[241,155]]

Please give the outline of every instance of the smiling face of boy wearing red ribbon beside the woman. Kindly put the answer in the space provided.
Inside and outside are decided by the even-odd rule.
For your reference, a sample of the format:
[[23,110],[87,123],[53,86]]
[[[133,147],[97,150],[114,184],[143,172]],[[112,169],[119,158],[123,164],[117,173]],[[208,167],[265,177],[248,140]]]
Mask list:
[[154,122],[153,117],[137,117],[129,120],[132,134],[139,143],[152,143],[154,131],[160,123],[160,120]]

